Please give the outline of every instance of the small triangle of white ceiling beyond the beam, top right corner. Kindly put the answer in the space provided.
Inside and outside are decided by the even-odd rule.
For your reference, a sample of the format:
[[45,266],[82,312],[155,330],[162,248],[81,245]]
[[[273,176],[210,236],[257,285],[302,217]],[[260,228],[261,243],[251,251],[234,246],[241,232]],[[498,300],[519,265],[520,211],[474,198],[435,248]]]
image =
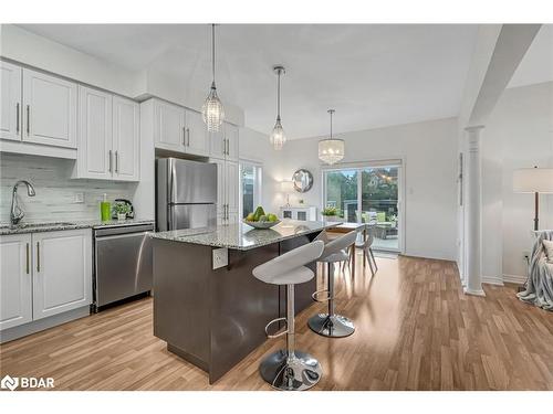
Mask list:
[[553,81],[553,24],[544,24],[513,74],[509,87]]

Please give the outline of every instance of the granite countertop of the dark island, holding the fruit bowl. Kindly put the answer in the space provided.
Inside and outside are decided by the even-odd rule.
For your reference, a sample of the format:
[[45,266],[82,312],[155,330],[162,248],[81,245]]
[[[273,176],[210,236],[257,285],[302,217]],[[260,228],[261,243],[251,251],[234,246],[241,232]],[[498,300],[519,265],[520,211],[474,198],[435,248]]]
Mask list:
[[228,247],[240,251],[265,246],[283,240],[333,227],[337,223],[305,222],[284,220],[272,229],[258,230],[244,223],[218,225],[215,229],[187,229],[152,233],[150,237],[171,242],[201,244],[213,247]]

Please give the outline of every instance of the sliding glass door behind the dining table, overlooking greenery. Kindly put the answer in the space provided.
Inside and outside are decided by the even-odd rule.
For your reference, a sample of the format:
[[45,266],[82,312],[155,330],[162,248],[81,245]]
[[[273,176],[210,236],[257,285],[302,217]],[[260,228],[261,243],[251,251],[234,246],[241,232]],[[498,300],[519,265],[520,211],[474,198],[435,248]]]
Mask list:
[[401,162],[374,162],[324,171],[324,206],[338,210],[344,222],[367,223],[373,247],[401,248]]

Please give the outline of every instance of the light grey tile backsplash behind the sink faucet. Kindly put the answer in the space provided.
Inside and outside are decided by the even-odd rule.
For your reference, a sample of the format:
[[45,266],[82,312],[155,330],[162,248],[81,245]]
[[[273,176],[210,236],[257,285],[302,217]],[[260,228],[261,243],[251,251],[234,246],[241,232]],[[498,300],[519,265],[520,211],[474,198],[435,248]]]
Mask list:
[[[73,160],[0,153],[0,222],[10,221],[11,192],[18,180],[31,182],[35,197],[20,185],[18,198],[25,212],[23,221],[94,220],[100,217],[103,194],[107,200],[133,200],[136,183],[102,180],[73,180]],[[76,202],[83,194],[83,202]]]

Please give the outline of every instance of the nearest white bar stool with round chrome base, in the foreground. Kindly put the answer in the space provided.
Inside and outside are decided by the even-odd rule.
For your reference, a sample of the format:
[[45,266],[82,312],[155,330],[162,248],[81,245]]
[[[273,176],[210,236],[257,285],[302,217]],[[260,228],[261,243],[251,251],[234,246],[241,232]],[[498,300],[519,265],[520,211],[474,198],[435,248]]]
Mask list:
[[[324,243],[321,241],[305,244],[252,270],[253,276],[261,282],[286,285],[286,317],[273,319],[265,326],[268,338],[286,335],[286,350],[271,353],[259,367],[263,380],[278,390],[307,390],[319,382],[323,373],[319,361],[309,353],[296,351],[294,344],[294,285],[309,282],[315,276],[313,270],[305,265],[321,257],[323,248]],[[278,335],[269,335],[269,326],[278,321],[285,321],[286,330]]]

